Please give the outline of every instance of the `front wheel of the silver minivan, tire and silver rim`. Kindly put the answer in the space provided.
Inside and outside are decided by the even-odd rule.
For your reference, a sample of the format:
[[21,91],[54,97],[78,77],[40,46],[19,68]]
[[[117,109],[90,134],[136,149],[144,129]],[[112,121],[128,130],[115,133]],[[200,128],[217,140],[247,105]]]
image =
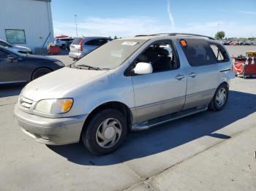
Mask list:
[[[113,124],[113,125],[110,125]],[[127,136],[127,119],[116,109],[98,112],[83,129],[84,146],[94,155],[116,150]]]

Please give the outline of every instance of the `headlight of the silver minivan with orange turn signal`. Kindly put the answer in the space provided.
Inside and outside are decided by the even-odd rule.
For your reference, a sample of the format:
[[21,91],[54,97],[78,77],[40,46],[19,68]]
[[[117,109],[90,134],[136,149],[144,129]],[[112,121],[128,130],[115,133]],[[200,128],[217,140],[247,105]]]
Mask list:
[[69,112],[72,105],[72,98],[44,99],[37,103],[34,110],[47,114],[64,114]]

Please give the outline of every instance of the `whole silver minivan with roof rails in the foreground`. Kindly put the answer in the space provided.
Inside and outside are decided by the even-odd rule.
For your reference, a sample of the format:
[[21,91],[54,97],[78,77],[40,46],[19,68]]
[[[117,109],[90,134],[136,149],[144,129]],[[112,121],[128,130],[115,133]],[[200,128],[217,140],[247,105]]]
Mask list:
[[211,37],[117,39],[26,85],[15,116],[41,143],[82,140],[94,154],[106,154],[128,130],[224,109],[235,77],[231,65],[225,47]]

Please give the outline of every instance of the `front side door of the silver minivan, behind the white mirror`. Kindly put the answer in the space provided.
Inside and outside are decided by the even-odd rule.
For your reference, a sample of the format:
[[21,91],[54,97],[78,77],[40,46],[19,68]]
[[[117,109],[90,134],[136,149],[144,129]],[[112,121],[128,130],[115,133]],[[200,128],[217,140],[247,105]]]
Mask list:
[[[137,59],[151,63],[152,74],[132,76],[137,122],[181,111],[184,106],[187,77],[177,56],[165,47],[170,41],[160,41],[146,49]],[[135,61],[141,62],[141,61]]]

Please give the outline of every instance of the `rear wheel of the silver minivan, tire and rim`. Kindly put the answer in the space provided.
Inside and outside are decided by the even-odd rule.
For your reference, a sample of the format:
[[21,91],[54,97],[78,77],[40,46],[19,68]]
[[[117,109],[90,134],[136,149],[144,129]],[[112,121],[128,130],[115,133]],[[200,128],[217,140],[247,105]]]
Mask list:
[[219,85],[214,94],[214,98],[212,98],[211,103],[208,105],[208,109],[216,112],[222,110],[227,104],[228,94],[229,90],[227,84],[222,83]]

